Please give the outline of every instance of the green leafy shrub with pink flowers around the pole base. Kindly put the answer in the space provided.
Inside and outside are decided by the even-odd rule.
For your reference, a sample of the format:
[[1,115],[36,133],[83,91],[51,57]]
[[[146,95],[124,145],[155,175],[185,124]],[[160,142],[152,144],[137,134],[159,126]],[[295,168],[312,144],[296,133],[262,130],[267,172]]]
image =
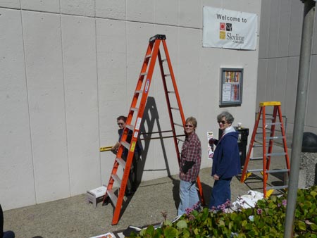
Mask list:
[[[139,234],[132,234],[130,237],[283,237],[286,198],[287,195],[271,196],[268,199],[259,200],[254,208],[242,209],[242,211],[209,211],[207,208],[201,212],[194,210],[187,215],[182,215],[175,223],[165,220],[157,229],[149,226]],[[316,186],[298,190],[294,237],[317,238],[316,206]]]

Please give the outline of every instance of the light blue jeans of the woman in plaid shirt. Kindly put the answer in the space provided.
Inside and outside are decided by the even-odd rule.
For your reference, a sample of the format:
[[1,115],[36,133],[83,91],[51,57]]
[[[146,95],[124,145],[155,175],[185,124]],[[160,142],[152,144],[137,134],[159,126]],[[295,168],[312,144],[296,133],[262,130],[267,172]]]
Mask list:
[[199,197],[196,183],[180,180],[180,205],[178,206],[178,215],[186,213],[186,208],[192,208],[198,202]]

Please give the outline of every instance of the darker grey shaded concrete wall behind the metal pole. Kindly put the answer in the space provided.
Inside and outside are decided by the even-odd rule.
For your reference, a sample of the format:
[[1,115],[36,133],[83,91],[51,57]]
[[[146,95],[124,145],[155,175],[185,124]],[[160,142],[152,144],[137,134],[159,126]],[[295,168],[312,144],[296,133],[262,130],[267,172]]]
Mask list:
[[[287,117],[287,134],[292,134],[294,126],[303,16],[302,1],[262,1],[256,104],[259,105],[259,101],[281,101],[282,115]],[[317,134],[316,17],[314,26],[304,130]]]

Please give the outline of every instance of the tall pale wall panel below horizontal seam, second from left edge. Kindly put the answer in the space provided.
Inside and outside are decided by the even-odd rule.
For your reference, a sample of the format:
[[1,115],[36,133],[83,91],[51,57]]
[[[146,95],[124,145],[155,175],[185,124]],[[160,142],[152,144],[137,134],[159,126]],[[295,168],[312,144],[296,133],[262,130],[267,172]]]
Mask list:
[[[37,202],[70,196],[60,16],[23,12]],[[37,23],[37,24],[35,24]]]

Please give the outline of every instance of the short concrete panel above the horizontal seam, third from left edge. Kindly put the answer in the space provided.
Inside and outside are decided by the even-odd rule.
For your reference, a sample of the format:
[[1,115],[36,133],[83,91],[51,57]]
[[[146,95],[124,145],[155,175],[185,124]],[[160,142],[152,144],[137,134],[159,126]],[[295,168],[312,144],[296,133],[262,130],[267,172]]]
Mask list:
[[63,0],[61,13],[81,16],[94,16],[94,0]]

